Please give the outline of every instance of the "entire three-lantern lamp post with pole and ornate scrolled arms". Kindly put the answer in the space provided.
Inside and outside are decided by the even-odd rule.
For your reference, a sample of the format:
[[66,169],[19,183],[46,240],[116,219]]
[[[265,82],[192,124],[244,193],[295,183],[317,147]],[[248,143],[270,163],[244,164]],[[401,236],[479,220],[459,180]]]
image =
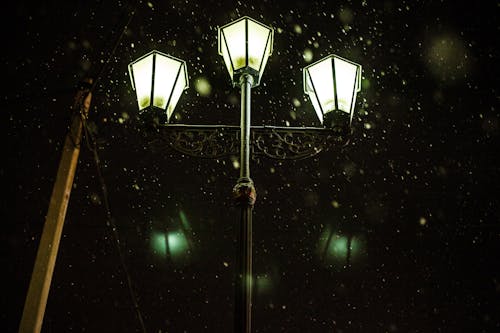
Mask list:
[[323,127],[251,126],[251,89],[260,83],[272,53],[273,36],[272,28],[247,16],[218,29],[219,54],[233,86],[241,89],[239,126],[169,124],[175,105],[188,86],[185,62],[152,51],[129,65],[139,110],[167,116],[167,124],[158,124],[162,142],[190,156],[220,158],[240,154],[240,177],[233,188],[241,210],[235,332],[251,332],[252,209],[256,191],[250,178],[250,152],[280,160],[303,159],[331,145],[345,144],[356,94],[360,91],[361,66],[331,55],[303,71],[304,91],[310,96]]

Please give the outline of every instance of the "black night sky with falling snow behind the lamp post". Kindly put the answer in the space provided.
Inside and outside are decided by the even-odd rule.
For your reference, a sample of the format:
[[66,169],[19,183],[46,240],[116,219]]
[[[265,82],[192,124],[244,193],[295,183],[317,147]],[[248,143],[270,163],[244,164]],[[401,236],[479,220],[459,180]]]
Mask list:
[[112,220],[84,143],[42,331],[141,332],[127,272],[147,332],[232,331],[237,157],[158,144],[127,65],[152,49],[184,59],[190,88],[173,122],[238,125],[217,27],[248,15],[275,29],[252,125],[321,126],[302,68],[331,53],[363,66],[349,145],[251,162],[253,331],[499,332],[499,6],[11,4],[0,55],[1,330],[17,332],[75,87],[92,77],[88,129]]

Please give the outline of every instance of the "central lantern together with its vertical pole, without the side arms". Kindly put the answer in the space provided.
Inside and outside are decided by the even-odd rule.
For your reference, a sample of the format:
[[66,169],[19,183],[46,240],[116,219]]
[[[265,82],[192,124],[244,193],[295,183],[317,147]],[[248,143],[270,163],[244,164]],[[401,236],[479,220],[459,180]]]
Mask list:
[[236,279],[235,332],[251,331],[252,313],[252,208],[257,193],[250,178],[250,92],[259,84],[272,52],[273,29],[247,16],[219,28],[219,54],[233,85],[241,87],[240,178],[233,189],[241,207],[239,261]]

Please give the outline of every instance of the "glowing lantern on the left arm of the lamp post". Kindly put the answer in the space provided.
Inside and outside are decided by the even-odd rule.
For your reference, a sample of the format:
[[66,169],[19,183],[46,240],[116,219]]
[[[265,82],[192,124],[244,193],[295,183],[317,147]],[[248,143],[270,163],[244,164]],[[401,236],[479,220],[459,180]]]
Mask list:
[[166,110],[170,120],[182,92],[188,87],[186,62],[151,51],[129,65],[129,74],[139,110],[151,106],[160,108]]

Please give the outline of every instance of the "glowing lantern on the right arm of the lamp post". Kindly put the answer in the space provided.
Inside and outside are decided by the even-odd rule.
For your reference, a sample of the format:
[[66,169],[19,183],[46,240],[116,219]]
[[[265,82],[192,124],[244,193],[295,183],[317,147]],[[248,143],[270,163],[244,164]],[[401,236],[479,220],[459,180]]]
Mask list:
[[361,90],[361,65],[330,55],[304,68],[304,91],[321,123],[332,111],[349,114],[352,121],[356,95]]

